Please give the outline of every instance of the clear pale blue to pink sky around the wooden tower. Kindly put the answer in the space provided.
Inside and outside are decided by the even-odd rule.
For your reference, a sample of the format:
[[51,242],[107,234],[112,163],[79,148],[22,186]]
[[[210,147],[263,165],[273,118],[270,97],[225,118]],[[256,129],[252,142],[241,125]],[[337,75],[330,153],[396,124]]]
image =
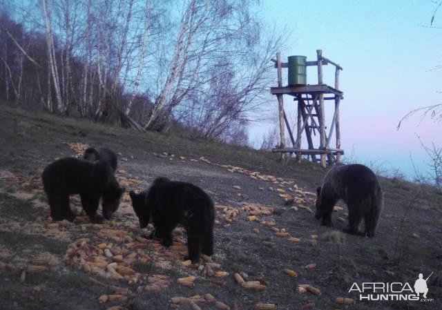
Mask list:
[[[428,158],[417,136],[426,145],[434,142],[442,147],[442,122],[416,115],[400,130],[396,127],[410,110],[442,104],[442,69],[432,70],[442,65],[442,29],[427,28],[436,6],[431,0],[261,1],[259,14],[267,25],[291,31],[287,46],[280,50],[283,61],[290,55],[315,60],[316,50],[322,49],[323,56],[343,67],[340,130],[344,159],[380,171],[398,170],[410,179],[414,167],[421,173],[428,171]],[[442,27],[442,9],[433,26]],[[317,84],[314,70],[307,71],[307,84]],[[333,86],[334,67],[324,70],[325,82]],[[269,97],[272,105],[277,117],[276,97]],[[295,119],[291,98],[285,97],[285,106]],[[327,122],[333,116],[330,108],[326,105]],[[274,123],[252,123],[251,142],[258,144]]]

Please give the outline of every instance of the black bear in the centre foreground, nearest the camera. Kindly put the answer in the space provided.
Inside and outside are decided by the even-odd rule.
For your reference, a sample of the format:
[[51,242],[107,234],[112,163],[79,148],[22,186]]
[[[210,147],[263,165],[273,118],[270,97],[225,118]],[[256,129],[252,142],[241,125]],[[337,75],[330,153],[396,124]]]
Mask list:
[[159,238],[164,246],[173,243],[172,231],[182,224],[187,233],[189,255],[185,260],[198,262],[200,254],[213,254],[215,209],[211,197],[191,183],[158,177],[148,190],[129,193],[133,210],[144,228],[150,221],[154,231],[149,238]]

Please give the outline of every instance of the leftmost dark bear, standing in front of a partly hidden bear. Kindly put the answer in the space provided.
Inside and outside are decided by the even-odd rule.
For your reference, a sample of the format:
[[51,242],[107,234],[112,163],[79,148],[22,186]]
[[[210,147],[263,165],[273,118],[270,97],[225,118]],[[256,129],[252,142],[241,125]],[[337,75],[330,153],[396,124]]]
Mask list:
[[90,222],[102,223],[103,218],[97,215],[100,197],[103,196],[103,216],[109,220],[117,211],[124,193],[124,188],[119,186],[111,166],[104,159],[97,162],[75,157],[57,159],[46,166],[41,178],[54,221],[75,220],[69,196],[79,194]]

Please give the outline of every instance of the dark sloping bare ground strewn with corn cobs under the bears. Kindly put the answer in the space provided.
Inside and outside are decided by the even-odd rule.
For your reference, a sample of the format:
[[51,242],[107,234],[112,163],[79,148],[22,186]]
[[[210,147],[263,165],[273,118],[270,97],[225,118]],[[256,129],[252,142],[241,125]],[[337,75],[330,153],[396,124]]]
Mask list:
[[[442,309],[442,195],[435,188],[380,177],[385,199],[381,221],[374,238],[362,238],[340,233],[347,226],[343,202],[332,228],[314,218],[313,193],[326,173],[316,164],[282,165],[278,155],[251,148],[135,133],[6,104],[0,104],[0,119],[0,309],[222,309],[204,301],[204,293],[230,309],[253,309],[258,302],[278,309]],[[220,268],[214,271],[227,276],[213,276],[205,262],[182,266],[182,229],[175,231],[179,251],[140,238],[151,227],[138,227],[130,200],[122,202],[112,221],[99,225],[88,222],[73,196],[75,222],[51,226],[41,171],[56,158],[81,153],[86,144],[119,154],[117,176],[127,191],[140,191],[165,176],[209,193],[217,206],[212,259]],[[294,203],[286,204],[285,195],[294,197]],[[258,212],[258,220],[251,221],[253,208],[271,212]],[[275,228],[300,240],[279,237]],[[135,273],[114,280],[107,267],[86,268],[93,253],[102,253],[102,244],[125,249],[123,264]],[[86,260],[75,256],[79,249],[89,251]],[[41,255],[50,257],[50,263],[44,271],[32,272],[28,266]],[[308,264],[316,266],[305,268]],[[427,281],[431,302],[360,301],[358,293],[349,292],[354,282],[412,286],[419,273],[426,278],[432,272]],[[234,273],[259,281],[264,289],[242,287]],[[155,277],[160,275],[166,280],[158,288]],[[195,276],[192,287],[177,283],[189,275]],[[319,289],[320,295],[299,293],[299,284]],[[103,295],[117,297],[101,303]],[[194,297],[197,306],[189,300],[171,302],[195,295],[200,295]],[[338,304],[338,297],[355,303]]]

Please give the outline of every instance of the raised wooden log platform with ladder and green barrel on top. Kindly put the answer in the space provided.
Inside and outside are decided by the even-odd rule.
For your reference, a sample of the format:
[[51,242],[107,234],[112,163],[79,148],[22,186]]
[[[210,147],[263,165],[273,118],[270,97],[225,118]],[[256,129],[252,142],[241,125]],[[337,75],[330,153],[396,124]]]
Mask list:
[[[305,56],[290,56],[288,63],[281,62],[280,52],[276,54],[275,68],[278,70],[278,87],[271,87],[270,93],[278,98],[280,145],[273,148],[273,152],[281,153],[282,159],[287,153],[295,154],[300,161],[302,155],[313,162],[320,162],[325,167],[340,162],[340,155],[344,151],[340,148],[339,103],[343,99],[343,92],[339,90],[339,72],[343,70],[338,64],[323,57],[322,50],[316,50],[316,61],[307,61]],[[323,66],[335,66],[334,87],[323,83]],[[307,84],[307,66],[318,67],[318,84]],[[288,86],[282,86],[282,68],[289,68]],[[298,103],[296,137],[294,137],[289,119],[284,110],[283,95],[289,95]],[[327,135],[325,126],[325,101],[334,101],[334,115]],[[285,128],[291,140],[292,147],[285,147]],[[336,128],[336,148],[330,148],[334,129]],[[315,147],[314,136],[319,133],[319,143]],[[302,135],[305,133],[308,148],[301,148]],[[319,156],[319,158],[317,157]]]

